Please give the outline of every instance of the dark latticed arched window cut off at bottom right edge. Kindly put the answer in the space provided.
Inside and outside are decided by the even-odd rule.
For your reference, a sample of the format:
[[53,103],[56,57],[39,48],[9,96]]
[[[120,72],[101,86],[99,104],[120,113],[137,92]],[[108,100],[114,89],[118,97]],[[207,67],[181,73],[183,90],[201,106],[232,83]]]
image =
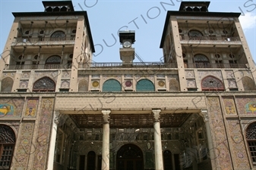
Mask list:
[[246,129],[246,140],[251,153],[253,164],[256,164],[256,122],[252,122]]

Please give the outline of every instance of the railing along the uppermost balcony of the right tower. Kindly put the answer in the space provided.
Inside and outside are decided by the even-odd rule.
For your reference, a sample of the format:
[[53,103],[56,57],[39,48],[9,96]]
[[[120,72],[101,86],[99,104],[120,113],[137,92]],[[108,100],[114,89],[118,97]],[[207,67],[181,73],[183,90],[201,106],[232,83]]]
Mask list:
[[182,40],[195,40],[195,41],[223,41],[223,42],[235,42],[240,41],[239,37],[222,37],[222,36],[180,36]]

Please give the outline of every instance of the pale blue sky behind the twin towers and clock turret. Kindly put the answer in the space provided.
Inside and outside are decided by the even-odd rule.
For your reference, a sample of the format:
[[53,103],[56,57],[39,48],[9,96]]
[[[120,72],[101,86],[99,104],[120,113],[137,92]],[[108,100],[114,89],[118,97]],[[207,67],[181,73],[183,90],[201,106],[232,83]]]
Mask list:
[[[73,0],[75,11],[87,11],[90,29],[96,52],[96,62],[121,62],[119,57],[118,31],[120,28],[135,31],[133,47],[141,58],[147,61],[160,61],[163,51],[160,40],[167,11],[178,11],[182,0]],[[160,2],[166,5],[163,8]],[[0,51],[2,53],[6,39],[14,20],[11,12],[43,11],[41,0],[1,0],[0,1]],[[254,0],[223,0],[211,1],[209,11],[240,12],[242,27],[245,32],[251,54],[256,61],[256,1]],[[135,24],[136,23],[136,24]],[[116,41],[115,41],[116,39]],[[108,46],[109,47],[108,47]],[[102,48],[103,47],[103,48]],[[135,59],[134,61],[137,61]]]

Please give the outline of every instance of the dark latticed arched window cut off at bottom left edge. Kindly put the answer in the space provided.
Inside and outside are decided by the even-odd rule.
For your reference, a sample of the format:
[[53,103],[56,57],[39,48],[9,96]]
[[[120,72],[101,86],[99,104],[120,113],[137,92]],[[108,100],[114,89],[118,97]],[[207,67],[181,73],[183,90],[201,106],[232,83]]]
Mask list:
[[9,169],[14,153],[15,133],[8,125],[0,125],[0,169]]

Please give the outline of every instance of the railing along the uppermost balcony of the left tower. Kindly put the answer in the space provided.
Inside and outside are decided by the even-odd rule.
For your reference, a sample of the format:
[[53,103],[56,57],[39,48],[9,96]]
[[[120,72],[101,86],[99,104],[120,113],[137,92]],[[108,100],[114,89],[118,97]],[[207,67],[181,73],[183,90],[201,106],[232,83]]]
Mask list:
[[37,37],[37,38],[30,38],[30,37],[23,37],[23,38],[16,38],[14,42],[60,42],[60,41],[74,41],[74,36],[67,36],[67,37],[60,37],[60,38],[51,38],[51,37]]

